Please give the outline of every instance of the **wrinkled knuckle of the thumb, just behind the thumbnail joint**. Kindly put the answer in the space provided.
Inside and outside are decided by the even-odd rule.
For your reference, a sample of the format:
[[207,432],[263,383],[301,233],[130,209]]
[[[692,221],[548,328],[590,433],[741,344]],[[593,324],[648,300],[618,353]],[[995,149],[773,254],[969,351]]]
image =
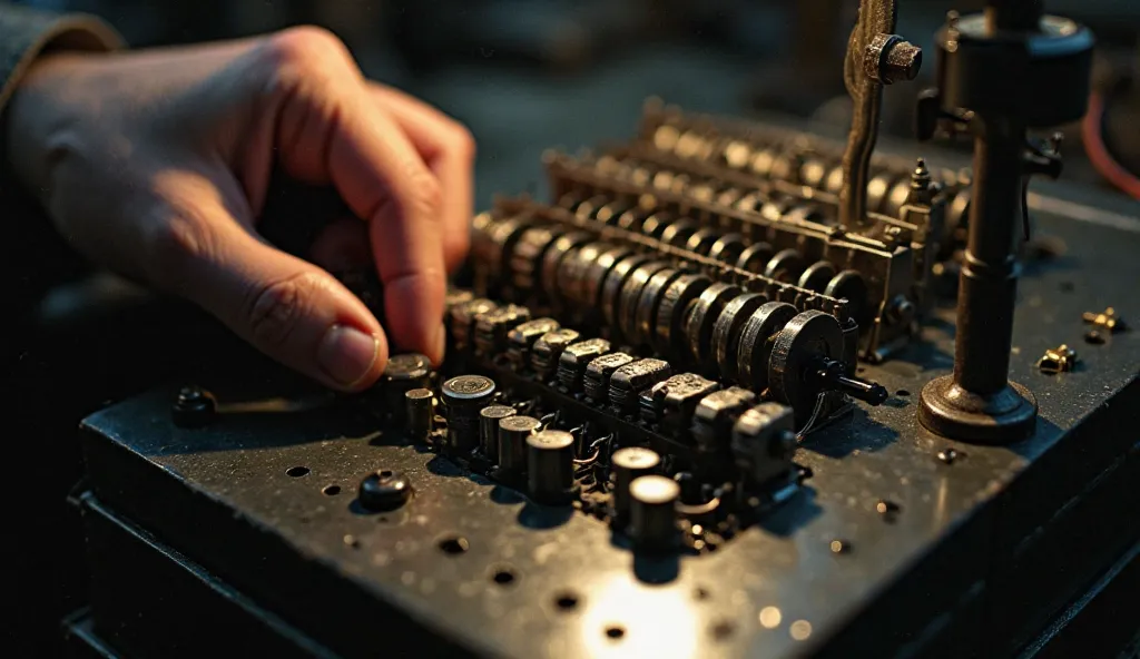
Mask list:
[[323,286],[320,276],[314,272],[254,286],[246,314],[253,341],[268,349],[288,342]]

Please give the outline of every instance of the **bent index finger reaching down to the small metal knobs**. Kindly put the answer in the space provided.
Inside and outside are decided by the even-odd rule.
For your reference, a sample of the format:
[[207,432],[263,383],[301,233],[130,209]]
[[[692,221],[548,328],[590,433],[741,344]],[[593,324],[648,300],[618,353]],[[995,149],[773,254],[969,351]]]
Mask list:
[[440,185],[397,122],[372,101],[359,70],[332,35],[294,30],[285,57],[274,143],[286,169],[331,180],[368,222],[384,283],[390,336],[402,350],[442,359],[446,270]]

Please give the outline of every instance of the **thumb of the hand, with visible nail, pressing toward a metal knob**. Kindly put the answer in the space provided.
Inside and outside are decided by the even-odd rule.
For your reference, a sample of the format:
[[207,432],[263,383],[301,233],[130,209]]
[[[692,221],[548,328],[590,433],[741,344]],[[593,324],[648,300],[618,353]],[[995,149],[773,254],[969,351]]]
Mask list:
[[158,253],[179,263],[170,270],[180,292],[266,355],[328,387],[358,391],[375,382],[388,341],[368,308],[325,270],[272,247],[202,198],[163,231],[173,239]]

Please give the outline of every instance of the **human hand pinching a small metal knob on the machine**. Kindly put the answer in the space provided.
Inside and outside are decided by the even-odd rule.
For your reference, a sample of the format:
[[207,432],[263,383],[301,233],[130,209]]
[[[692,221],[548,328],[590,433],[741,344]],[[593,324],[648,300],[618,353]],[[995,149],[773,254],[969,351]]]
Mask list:
[[[442,359],[474,143],[364,80],[332,34],[48,56],[13,97],[6,130],[14,172],[74,247],[199,304],[287,366],[363,389],[384,369],[385,331]],[[327,271],[259,236],[275,164],[333,185],[357,215],[328,227],[311,258],[332,268],[370,252],[388,327]]]

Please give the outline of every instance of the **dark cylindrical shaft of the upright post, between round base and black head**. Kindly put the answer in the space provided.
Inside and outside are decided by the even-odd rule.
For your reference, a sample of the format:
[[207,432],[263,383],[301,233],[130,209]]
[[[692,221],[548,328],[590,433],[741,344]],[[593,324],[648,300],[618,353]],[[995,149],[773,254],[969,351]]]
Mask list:
[[990,121],[975,139],[970,228],[958,298],[954,382],[994,393],[1007,384],[1017,294],[1025,129]]

